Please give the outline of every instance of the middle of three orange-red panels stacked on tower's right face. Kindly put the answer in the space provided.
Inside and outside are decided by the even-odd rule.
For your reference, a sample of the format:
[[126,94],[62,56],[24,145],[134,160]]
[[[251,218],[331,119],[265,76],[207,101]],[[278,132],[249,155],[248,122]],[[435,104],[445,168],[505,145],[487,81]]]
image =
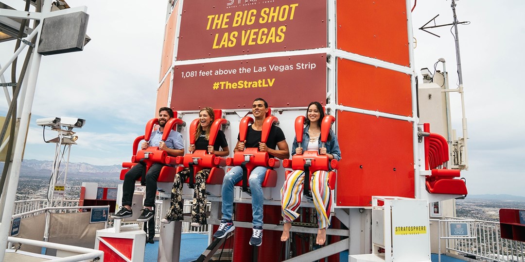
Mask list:
[[337,104],[412,116],[410,75],[338,59]]

